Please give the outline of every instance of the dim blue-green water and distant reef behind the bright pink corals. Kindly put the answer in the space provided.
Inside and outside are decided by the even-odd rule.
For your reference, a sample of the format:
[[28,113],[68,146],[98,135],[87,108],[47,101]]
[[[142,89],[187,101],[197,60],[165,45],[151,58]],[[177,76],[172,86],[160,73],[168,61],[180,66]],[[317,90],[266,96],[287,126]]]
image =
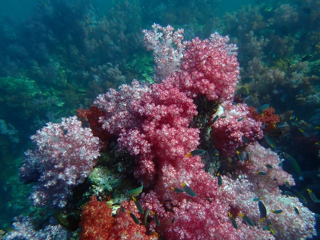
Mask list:
[[[306,202],[299,199],[318,222],[320,1],[15,0],[0,2],[0,21],[3,236],[15,231],[10,225],[19,215],[39,221],[65,217],[59,209],[32,206],[35,183],[19,181],[24,152],[35,148],[30,136],[48,122],[60,123],[61,117],[90,108],[109,88],[133,79],[153,83],[153,56],[144,47],[142,30],[154,22],[183,28],[185,40],[218,32],[237,44],[235,101],[261,112],[268,109],[264,121],[272,124],[263,129],[267,137],[259,142],[294,158],[293,164],[285,160],[283,169],[293,175],[296,186],[280,188],[283,194],[287,190],[305,197]],[[69,215],[66,228],[77,238],[79,216],[71,221]],[[318,232],[318,224],[315,228]]]

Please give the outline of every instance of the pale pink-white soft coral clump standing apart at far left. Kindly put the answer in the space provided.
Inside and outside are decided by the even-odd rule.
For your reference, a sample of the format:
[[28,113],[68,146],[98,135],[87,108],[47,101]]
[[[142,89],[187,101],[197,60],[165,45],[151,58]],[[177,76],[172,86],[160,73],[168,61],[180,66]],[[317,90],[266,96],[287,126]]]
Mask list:
[[20,180],[38,182],[30,197],[34,205],[64,207],[72,188],[93,170],[99,139],[81,125],[76,116],[62,118],[61,124],[48,123],[31,136],[37,150],[25,153]]

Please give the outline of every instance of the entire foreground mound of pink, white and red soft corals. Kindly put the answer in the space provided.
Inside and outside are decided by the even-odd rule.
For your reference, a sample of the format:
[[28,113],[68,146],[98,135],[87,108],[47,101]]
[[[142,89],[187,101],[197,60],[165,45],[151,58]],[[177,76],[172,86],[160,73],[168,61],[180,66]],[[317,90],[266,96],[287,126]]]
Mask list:
[[[295,182],[279,156],[258,143],[263,123],[248,116],[245,103],[233,103],[240,71],[236,45],[218,33],[183,41],[182,29],[156,24],[152,29],[144,31],[144,41],[154,53],[156,83],[133,80],[118,91],[110,89],[82,117],[95,136],[105,132],[117,138],[118,151],[134,161],[133,175],[141,187],[129,191],[115,217],[93,196],[83,207],[81,239],[316,235],[314,213],[298,198],[281,195],[279,185]],[[90,174],[103,151],[92,130],[74,116],[32,136],[37,150],[26,153],[21,179],[37,180],[34,205],[65,206],[74,187]],[[219,151],[230,166],[220,173],[204,171]],[[14,226],[19,231],[11,234],[22,236],[26,223]],[[42,238],[52,235],[43,231]]]

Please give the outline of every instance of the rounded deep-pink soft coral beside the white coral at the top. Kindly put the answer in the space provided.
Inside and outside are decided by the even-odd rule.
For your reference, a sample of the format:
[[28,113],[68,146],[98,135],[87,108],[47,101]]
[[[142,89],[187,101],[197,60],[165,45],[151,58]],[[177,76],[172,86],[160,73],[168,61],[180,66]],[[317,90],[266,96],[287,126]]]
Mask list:
[[210,39],[187,42],[182,71],[175,71],[170,80],[191,98],[205,95],[209,101],[219,102],[233,98],[240,69],[237,46],[228,41],[215,33]]

